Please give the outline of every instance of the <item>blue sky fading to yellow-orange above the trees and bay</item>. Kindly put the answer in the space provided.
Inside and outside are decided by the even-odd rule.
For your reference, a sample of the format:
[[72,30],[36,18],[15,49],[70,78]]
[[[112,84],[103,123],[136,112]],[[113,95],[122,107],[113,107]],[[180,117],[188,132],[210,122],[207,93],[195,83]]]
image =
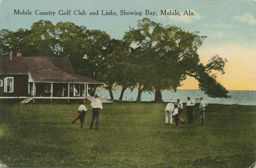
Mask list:
[[[165,10],[166,15],[161,15]],[[98,15],[89,15],[97,11]],[[170,11],[176,15],[167,15]],[[256,90],[256,1],[0,0],[0,30],[30,29],[34,22],[49,20],[100,29],[122,39],[144,17],[207,36],[198,49],[201,62],[206,65],[214,55],[228,59],[225,74],[218,74],[217,81],[228,90]],[[198,82],[188,77],[178,89],[198,89]]]

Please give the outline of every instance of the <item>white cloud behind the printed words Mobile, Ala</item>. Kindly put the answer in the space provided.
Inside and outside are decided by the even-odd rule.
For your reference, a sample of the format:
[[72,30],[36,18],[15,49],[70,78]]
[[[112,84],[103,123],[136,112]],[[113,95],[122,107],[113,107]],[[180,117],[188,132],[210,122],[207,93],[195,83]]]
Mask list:
[[[166,10],[166,13],[167,11],[174,12],[175,10],[168,9]],[[199,13],[195,12],[194,10],[185,10],[185,11],[179,12],[179,15],[161,15],[159,16],[159,19],[167,20],[170,22],[176,22],[176,23],[191,23],[194,20],[202,19],[202,16]]]

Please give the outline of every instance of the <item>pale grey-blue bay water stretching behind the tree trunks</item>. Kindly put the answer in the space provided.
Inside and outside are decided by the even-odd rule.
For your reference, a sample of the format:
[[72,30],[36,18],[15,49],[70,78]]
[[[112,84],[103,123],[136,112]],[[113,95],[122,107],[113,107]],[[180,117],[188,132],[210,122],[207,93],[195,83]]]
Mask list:
[[[119,100],[121,90],[113,90],[113,96],[115,100]],[[102,97],[110,99],[108,90],[96,90],[96,94]],[[136,101],[138,90],[126,90],[124,91],[123,101]],[[182,99],[183,102],[187,103],[187,96],[192,99],[199,101],[200,97],[205,97],[209,103],[214,104],[240,104],[240,105],[256,105],[256,91],[229,91],[231,98],[212,98],[208,97],[199,90],[177,90],[174,91],[162,91],[162,98],[164,102],[177,102],[177,99]],[[141,101],[154,101],[155,92],[143,92]]]

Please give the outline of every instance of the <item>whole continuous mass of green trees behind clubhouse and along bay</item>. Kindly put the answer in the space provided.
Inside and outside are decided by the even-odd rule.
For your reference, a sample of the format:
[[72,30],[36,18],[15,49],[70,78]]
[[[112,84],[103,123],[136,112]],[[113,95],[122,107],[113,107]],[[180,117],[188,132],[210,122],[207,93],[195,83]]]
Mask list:
[[[199,61],[197,49],[206,36],[186,32],[177,26],[162,26],[148,18],[130,28],[123,40],[111,39],[100,30],[88,30],[71,22],[40,20],[30,30],[0,31],[0,55],[22,52],[24,56],[68,57],[77,74],[103,81],[108,90],[139,86],[143,91],[176,90],[186,76],[199,81],[199,88],[211,97],[228,97],[228,91],[216,80],[224,74],[226,59],[214,55],[209,64]],[[132,47],[133,46],[133,47]],[[135,46],[135,47],[134,47]],[[97,86],[89,92],[94,95]]]

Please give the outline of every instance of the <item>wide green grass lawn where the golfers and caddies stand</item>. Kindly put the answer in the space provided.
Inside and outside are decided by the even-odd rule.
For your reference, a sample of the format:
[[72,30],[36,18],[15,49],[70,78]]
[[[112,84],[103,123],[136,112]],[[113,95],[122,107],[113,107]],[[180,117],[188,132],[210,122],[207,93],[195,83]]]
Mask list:
[[[165,125],[166,103],[103,104],[71,124],[79,104],[0,104],[0,159],[8,167],[246,168],[256,161],[256,106],[210,104],[206,125]],[[89,105],[90,107],[90,105]],[[90,107],[91,108],[91,107]],[[186,110],[182,116],[187,121]]]

